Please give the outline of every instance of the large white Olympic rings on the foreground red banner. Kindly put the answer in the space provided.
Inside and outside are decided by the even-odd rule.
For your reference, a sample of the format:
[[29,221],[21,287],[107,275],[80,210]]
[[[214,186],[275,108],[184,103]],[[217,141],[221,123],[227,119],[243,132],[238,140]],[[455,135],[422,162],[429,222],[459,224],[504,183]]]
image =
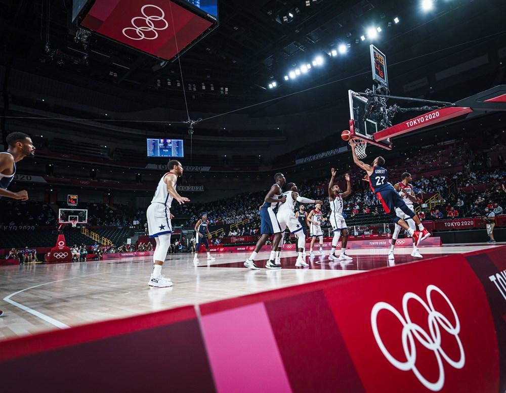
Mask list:
[[[453,319],[455,320],[455,326],[451,324],[451,322],[439,311],[434,309],[434,305],[432,303],[431,294],[433,291],[438,292],[448,303],[451,312],[453,314]],[[443,358],[450,366],[456,369],[461,369],[464,367],[466,363],[466,356],[464,354],[464,348],[462,347],[462,342],[458,337],[458,333],[460,332],[460,321],[458,320],[457,313],[455,312],[455,308],[451,303],[448,296],[439,289],[435,285],[429,285],[427,287],[427,304],[423,299],[421,299],[418,295],[407,292],[402,297],[402,310],[404,312],[404,316],[402,316],[391,304],[386,303],[384,301],[379,301],[374,304],[374,307],[371,311],[371,326],[372,332],[374,334],[374,338],[376,339],[376,343],[379,346],[379,349],[383,353],[383,355],[387,358],[387,360],[394,366],[397,367],[401,371],[409,371],[411,370],[416,378],[428,389],[432,391],[439,391],[443,388],[444,385],[444,368],[443,368]],[[416,300],[420,303],[424,309],[428,313],[428,326],[429,333],[426,332],[419,325],[414,324],[411,321],[408,313],[408,301],[410,299]],[[406,361],[401,362],[395,359],[390,352],[387,350],[381,336],[379,334],[379,330],[377,327],[377,316],[380,311],[387,310],[390,311],[402,324],[402,347],[404,351],[404,355],[406,356]],[[452,335],[455,338],[455,341],[459,348],[459,359],[453,360],[451,359],[441,347],[442,339],[441,339],[441,328],[443,328],[448,334]],[[436,382],[431,382],[427,380],[423,375],[421,375],[420,371],[416,368],[416,346],[414,339],[418,340],[418,342],[426,347],[428,350],[433,351],[436,357],[438,369],[439,369],[439,377]]]

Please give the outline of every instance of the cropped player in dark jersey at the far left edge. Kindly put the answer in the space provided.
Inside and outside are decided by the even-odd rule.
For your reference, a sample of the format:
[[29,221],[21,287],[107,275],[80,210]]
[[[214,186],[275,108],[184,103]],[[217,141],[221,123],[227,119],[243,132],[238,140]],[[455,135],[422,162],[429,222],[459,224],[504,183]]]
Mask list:
[[0,198],[7,197],[28,200],[28,193],[23,191],[12,192],[7,190],[16,174],[16,162],[25,157],[35,156],[35,147],[30,136],[24,133],[11,133],[7,136],[7,151],[0,152]]

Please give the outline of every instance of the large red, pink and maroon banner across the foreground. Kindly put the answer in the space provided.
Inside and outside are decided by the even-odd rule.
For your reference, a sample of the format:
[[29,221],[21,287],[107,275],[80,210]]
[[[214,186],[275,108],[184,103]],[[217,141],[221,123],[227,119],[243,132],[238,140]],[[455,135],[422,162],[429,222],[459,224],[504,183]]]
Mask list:
[[[164,362],[174,391],[502,393],[505,251],[205,303],[199,315],[184,307],[1,341],[2,388],[140,391]],[[19,378],[23,366],[30,378]]]

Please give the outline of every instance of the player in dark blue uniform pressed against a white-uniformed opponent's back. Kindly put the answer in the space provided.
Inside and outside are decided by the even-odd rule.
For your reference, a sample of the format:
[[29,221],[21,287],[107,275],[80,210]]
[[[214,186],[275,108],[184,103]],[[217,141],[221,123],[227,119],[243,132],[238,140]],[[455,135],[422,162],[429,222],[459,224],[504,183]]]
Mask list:
[[286,197],[282,196],[282,187],[286,183],[286,179],[283,173],[276,173],[274,175],[274,183],[264,198],[264,204],[260,208],[260,239],[258,239],[255,251],[251,253],[251,256],[246,259],[244,266],[251,270],[259,270],[260,268],[255,265],[255,258],[257,257],[262,246],[265,244],[267,239],[271,235],[274,235],[272,240],[271,255],[265,267],[267,269],[281,269],[281,266],[276,265],[276,249],[279,241],[281,240],[281,228],[278,220],[276,219],[276,213],[274,209],[278,206],[278,203],[286,202]]

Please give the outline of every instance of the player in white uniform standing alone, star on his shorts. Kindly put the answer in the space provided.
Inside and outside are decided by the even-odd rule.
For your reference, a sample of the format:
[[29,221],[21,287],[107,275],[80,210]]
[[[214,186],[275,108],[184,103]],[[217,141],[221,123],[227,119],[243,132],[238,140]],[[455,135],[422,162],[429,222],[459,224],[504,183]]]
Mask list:
[[177,160],[168,162],[169,172],[165,173],[156,188],[155,195],[146,212],[148,219],[149,237],[156,240],[156,248],[153,255],[153,273],[149,279],[150,287],[164,288],[172,286],[172,281],[161,275],[161,267],[167,256],[168,247],[171,245],[172,224],[171,214],[172,200],[176,199],[179,204],[190,202],[188,198],[182,197],[176,191],[178,177],[183,174],[183,166]]

